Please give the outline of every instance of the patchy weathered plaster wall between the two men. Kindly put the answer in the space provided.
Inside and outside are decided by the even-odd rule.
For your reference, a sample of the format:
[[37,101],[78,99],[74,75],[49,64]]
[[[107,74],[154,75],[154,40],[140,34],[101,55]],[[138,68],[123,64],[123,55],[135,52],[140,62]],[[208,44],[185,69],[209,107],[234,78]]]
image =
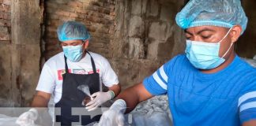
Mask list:
[[117,0],[115,38],[110,58],[122,87],[141,82],[160,65],[183,53],[183,31],[175,14],[179,0]]

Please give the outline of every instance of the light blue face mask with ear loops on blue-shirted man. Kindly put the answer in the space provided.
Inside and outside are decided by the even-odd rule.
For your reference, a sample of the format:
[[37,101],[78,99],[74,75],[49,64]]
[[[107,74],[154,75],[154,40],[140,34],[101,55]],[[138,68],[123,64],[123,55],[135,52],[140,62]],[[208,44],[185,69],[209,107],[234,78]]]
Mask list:
[[[229,29],[228,33],[231,29],[232,28]],[[223,39],[227,37],[228,33]],[[222,57],[219,57],[220,43],[223,39],[218,43],[205,43],[187,39],[185,50],[186,57],[197,69],[215,69],[217,66],[224,63],[224,56],[228,53],[233,44],[232,43],[231,46],[229,46],[228,50]]]

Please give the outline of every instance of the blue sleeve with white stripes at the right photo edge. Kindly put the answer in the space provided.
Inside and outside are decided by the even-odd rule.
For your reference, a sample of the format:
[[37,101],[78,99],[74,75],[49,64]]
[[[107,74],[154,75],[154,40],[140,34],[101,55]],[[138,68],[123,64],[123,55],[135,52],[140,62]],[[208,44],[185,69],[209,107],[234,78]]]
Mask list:
[[256,79],[250,85],[254,87],[254,90],[247,91],[239,97],[238,107],[241,124],[248,120],[256,120]]

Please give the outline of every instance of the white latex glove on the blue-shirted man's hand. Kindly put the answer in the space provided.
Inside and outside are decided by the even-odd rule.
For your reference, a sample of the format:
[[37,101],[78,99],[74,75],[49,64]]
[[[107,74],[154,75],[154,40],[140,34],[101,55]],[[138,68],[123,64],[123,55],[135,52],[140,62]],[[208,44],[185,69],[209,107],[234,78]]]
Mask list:
[[126,102],[122,99],[116,100],[110,109],[105,111],[100,117],[99,126],[124,126],[126,112]]

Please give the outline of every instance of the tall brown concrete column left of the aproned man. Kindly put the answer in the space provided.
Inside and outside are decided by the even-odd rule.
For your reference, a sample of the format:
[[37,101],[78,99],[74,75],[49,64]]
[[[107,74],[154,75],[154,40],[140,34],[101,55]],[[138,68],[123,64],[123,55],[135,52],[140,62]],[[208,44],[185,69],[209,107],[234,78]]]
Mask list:
[[11,100],[28,106],[40,75],[40,0],[11,1]]

